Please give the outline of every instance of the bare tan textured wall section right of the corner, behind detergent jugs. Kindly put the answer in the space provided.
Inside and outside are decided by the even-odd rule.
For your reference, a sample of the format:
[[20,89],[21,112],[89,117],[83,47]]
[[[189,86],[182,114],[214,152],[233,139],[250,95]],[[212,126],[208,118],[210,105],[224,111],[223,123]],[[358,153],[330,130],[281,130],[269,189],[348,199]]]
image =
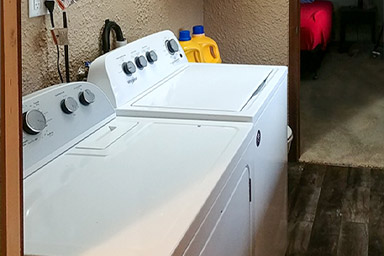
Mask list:
[[224,62],[288,64],[289,0],[205,0],[204,24]]

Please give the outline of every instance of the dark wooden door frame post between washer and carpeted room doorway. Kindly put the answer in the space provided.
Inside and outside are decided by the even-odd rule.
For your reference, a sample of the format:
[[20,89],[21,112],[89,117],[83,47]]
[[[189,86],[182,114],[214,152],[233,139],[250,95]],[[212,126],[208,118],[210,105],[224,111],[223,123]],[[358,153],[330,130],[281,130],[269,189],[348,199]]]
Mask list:
[[289,1],[289,64],[288,64],[289,125],[294,139],[290,161],[300,158],[300,0]]

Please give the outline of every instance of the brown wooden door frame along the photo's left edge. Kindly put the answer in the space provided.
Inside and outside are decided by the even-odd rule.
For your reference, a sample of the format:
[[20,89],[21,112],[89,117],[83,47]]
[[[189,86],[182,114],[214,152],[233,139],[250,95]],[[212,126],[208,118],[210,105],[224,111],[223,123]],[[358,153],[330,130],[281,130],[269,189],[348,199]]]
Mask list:
[[2,0],[0,255],[23,255],[20,0]]

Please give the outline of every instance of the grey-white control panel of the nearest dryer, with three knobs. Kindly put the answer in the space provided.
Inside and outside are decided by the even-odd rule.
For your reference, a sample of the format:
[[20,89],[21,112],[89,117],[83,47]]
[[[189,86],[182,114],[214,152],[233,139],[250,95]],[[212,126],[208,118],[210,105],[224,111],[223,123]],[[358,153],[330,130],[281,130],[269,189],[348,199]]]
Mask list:
[[88,82],[60,84],[23,97],[24,178],[115,117]]

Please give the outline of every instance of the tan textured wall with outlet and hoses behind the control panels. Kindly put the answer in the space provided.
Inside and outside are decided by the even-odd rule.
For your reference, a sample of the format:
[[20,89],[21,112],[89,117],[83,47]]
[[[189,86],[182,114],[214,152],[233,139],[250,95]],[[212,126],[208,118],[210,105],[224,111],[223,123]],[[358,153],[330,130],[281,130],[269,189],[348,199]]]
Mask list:
[[[57,7],[57,6],[56,6]],[[28,18],[28,1],[22,0],[23,94],[59,83],[56,48],[47,28],[49,17]],[[203,0],[78,0],[68,9],[71,77],[84,61],[100,54],[105,19],[116,21],[128,41],[150,33],[190,28],[203,22]],[[57,14],[56,27],[62,16]],[[61,49],[63,53],[63,49]],[[63,64],[63,57],[61,57]],[[64,68],[62,66],[62,71]]]

